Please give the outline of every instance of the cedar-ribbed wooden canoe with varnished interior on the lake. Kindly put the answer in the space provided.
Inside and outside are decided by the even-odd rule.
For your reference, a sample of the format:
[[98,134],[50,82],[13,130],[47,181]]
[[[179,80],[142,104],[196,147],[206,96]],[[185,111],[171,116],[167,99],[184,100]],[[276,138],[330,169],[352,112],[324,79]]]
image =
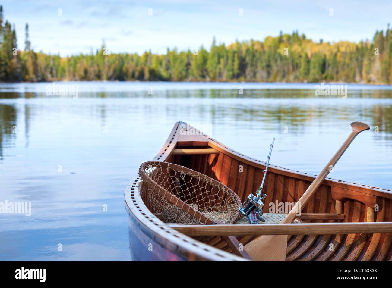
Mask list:
[[[182,165],[217,179],[242,202],[256,191],[265,168],[263,161],[236,152],[189,125],[187,129],[177,122],[153,160]],[[274,165],[268,171],[264,216],[284,217],[268,214],[268,203],[295,203],[316,176]],[[286,261],[392,260],[392,191],[338,179],[325,179],[293,224],[164,223],[159,213],[149,210],[138,177],[127,185],[125,208],[133,260],[246,260],[225,241],[230,235],[236,235],[242,245],[260,235],[289,235]],[[195,236],[213,237],[201,243],[192,238]]]

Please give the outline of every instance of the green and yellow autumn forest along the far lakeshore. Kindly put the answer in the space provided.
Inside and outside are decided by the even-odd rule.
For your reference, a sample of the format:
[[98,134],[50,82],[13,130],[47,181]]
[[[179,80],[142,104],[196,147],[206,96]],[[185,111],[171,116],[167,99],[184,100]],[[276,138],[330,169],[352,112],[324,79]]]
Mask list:
[[314,42],[298,31],[225,45],[215,38],[209,51],[167,49],[109,53],[103,44],[90,54],[67,57],[25,47],[18,50],[15,27],[0,7],[0,81],[146,80],[392,83],[392,30],[376,31],[371,41]]

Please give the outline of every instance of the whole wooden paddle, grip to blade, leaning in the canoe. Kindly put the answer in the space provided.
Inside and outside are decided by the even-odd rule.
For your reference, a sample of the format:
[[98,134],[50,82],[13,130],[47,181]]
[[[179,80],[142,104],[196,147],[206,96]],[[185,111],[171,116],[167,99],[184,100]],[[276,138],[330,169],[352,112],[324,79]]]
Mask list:
[[[362,122],[351,123],[352,132],[339,148],[338,152],[332,157],[321,173],[314,179],[306,192],[291,209],[289,214],[281,221],[281,224],[292,223],[296,214],[306,205],[310,197],[320,187],[321,183],[328,176],[331,168],[335,166],[340,157],[346,151],[354,138],[362,131],[370,129],[369,125]],[[287,251],[287,235],[263,235],[244,246],[254,261],[285,261]]]

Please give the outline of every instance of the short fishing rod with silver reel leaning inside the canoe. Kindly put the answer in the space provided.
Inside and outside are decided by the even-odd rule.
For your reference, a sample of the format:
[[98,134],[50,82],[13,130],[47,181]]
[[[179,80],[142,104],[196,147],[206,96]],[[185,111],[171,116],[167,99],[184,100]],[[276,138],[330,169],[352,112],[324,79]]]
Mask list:
[[265,169],[263,170],[264,173],[263,180],[261,181],[260,187],[256,190],[256,196],[253,193],[249,194],[248,198],[239,208],[240,212],[244,216],[248,217],[250,224],[259,224],[259,222],[257,221],[258,219],[262,222],[265,222],[265,219],[262,217],[263,206],[264,206],[263,200],[265,197],[267,197],[267,194],[263,194],[263,196],[261,196],[261,193],[263,192],[265,177],[267,176],[267,170],[269,167],[269,161],[271,159],[272,148],[274,147],[274,142],[275,142],[275,138],[272,137],[270,151],[267,156],[267,163],[265,165]]

